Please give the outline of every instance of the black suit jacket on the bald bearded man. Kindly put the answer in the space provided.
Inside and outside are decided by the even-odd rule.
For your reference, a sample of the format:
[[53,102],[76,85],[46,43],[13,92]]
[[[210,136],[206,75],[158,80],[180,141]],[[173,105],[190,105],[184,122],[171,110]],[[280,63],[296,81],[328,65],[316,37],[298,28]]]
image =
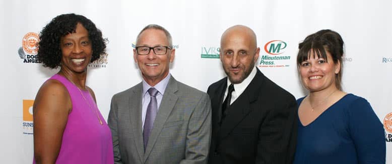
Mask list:
[[292,163],[298,123],[294,96],[257,69],[219,125],[226,87],[227,77],[207,91],[212,104],[208,163]]

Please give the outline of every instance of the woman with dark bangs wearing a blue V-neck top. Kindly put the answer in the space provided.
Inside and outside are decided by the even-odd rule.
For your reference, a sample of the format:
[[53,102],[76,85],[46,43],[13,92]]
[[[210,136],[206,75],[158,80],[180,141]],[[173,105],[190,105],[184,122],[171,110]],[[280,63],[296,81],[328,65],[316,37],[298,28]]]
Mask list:
[[366,99],[342,91],[343,45],[331,30],[299,44],[298,72],[309,95],[297,100],[294,163],[385,163],[380,120]]

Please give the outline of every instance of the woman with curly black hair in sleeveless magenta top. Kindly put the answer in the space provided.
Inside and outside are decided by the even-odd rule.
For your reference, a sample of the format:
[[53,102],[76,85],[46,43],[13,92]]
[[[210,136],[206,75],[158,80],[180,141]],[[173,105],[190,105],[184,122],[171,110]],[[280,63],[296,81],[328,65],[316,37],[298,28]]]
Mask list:
[[33,163],[114,162],[110,129],[86,86],[87,66],[105,49],[101,31],[84,16],[60,15],[43,28],[38,60],[60,71],[34,101]]

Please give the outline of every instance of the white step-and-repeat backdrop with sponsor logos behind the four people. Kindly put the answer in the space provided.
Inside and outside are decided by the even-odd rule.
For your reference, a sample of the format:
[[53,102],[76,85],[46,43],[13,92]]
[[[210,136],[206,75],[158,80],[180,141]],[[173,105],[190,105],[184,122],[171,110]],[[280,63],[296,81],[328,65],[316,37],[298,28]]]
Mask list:
[[[41,84],[58,71],[36,63],[32,45],[52,18],[66,13],[91,19],[109,40],[107,55],[89,66],[87,80],[105,118],[112,95],[141,81],[132,44],[148,24],[172,34],[177,50],[171,74],[202,91],[224,77],[218,59],[221,34],[233,25],[248,26],[262,49],[258,69],[296,98],[307,94],[296,68],[298,43],[318,30],[335,30],[346,43],[343,89],[372,105],[384,124],[386,160],[392,163],[391,6],[387,0],[0,1],[0,163],[32,161],[32,104]],[[265,50],[272,44],[275,49]],[[274,53],[282,58],[270,58]]]

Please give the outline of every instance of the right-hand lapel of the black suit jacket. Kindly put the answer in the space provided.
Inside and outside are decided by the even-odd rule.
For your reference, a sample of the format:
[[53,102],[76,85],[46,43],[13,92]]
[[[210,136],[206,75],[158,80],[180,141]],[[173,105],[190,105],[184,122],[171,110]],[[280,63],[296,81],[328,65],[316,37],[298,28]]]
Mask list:
[[227,109],[228,115],[222,122],[220,137],[223,138],[249,114],[252,110],[251,103],[257,100],[260,87],[263,83],[263,74],[257,69],[255,77],[245,88],[244,92]]

